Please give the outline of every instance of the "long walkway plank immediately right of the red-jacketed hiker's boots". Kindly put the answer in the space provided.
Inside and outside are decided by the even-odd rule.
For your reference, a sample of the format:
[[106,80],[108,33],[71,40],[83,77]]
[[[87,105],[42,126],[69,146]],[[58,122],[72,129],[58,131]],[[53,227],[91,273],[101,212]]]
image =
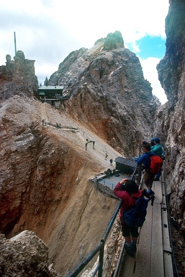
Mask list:
[[150,250],[151,250],[151,230],[152,230],[153,206],[148,205],[146,220],[141,228],[139,244],[136,254],[136,266],[134,276],[148,277],[150,272]]

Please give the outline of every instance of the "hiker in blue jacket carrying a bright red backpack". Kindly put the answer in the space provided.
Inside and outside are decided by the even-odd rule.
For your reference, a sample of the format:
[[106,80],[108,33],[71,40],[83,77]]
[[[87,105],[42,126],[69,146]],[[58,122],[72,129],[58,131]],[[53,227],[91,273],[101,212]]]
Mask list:
[[[160,162],[159,165],[153,160],[152,158],[153,156],[155,156],[154,159],[157,159],[158,162]],[[143,146],[143,155],[141,156],[141,158],[137,160],[137,164],[144,164],[145,171],[143,175],[143,182],[148,188],[147,190],[148,194],[154,195],[155,193],[151,189],[152,183],[156,173],[158,173],[161,170],[161,167],[163,164],[162,158],[152,153],[151,146],[149,144],[146,144]]]

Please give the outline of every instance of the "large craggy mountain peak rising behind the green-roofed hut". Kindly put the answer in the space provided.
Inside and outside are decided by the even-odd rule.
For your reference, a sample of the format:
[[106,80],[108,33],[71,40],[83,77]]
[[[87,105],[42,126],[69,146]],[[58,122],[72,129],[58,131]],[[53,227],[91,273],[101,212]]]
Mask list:
[[138,152],[142,139],[153,133],[159,106],[144,79],[136,55],[124,47],[120,32],[97,40],[87,50],[72,52],[49,79],[70,95],[61,110],[86,124],[123,155]]

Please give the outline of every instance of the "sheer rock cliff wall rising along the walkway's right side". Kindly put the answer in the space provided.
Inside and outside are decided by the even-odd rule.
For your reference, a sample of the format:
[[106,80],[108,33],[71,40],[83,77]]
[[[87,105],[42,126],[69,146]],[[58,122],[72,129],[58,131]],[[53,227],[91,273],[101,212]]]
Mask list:
[[171,214],[185,235],[185,1],[169,3],[166,54],[157,66],[168,102],[157,112],[156,132],[166,140]]

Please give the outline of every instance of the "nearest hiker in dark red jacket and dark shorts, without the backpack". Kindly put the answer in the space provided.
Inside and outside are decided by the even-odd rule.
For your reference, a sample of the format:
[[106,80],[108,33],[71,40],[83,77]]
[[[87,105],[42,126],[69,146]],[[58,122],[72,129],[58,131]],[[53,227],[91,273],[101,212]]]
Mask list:
[[134,252],[136,252],[136,244],[139,236],[138,227],[130,227],[124,221],[123,214],[124,211],[129,210],[135,205],[136,199],[142,196],[142,190],[139,190],[137,184],[134,181],[124,178],[122,181],[118,182],[113,192],[118,198],[123,199],[123,205],[120,208],[122,233],[126,241],[125,249],[127,253],[133,257]]

